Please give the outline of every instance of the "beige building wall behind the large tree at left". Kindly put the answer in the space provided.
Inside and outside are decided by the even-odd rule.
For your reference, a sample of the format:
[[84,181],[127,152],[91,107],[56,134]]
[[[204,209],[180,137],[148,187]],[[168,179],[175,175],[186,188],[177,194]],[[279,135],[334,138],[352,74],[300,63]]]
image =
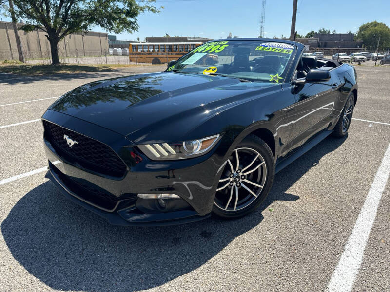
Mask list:
[[[22,24],[18,24],[20,27]],[[48,59],[51,56],[50,43],[45,32],[36,30],[23,32],[19,30],[22,50],[26,59]],[[66,36],[58,44],[59,57],[96,56],[108,53],[108,35],[106,33],[88,32]],[[15,34],[10,22],[0,22],[0,60],[19,60]]]

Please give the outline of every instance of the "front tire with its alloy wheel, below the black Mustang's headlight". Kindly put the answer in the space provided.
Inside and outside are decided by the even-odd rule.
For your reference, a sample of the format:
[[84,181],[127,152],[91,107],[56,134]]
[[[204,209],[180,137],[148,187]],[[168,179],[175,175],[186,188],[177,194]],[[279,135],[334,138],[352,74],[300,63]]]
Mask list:
[[270,147],[257,136],[247,136],[225,164],[215,193],[213,215],[236,219],[253,212],[270,192],[274,175]]

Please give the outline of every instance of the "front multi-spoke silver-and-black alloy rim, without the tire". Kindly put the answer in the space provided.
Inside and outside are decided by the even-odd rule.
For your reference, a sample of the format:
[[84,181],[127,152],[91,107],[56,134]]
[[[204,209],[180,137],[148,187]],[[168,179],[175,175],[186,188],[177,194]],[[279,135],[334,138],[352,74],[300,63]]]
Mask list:
[[214,203],[224,211],[242,210],[260,195],[266,180],[263,156],[249,147],[237,148],[225,164]]

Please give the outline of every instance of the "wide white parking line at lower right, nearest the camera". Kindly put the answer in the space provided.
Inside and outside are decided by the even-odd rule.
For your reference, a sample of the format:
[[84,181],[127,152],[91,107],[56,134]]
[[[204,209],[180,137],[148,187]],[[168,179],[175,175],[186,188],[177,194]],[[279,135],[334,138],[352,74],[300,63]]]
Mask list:
[[349,292],[362,263],[364,248],[390,173],[390,144],[376,172],[366,201],[328,285],[329,292]]

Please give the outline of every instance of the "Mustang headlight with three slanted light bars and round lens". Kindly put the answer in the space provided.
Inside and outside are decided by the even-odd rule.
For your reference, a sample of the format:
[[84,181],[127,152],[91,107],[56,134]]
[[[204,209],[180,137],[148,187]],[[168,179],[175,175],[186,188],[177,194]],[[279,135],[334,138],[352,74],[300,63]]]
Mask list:
[[219,141],[221,135],[178,143],[138,145],[138,148],[152,160],[176,160],[193,158],[206,154]]

